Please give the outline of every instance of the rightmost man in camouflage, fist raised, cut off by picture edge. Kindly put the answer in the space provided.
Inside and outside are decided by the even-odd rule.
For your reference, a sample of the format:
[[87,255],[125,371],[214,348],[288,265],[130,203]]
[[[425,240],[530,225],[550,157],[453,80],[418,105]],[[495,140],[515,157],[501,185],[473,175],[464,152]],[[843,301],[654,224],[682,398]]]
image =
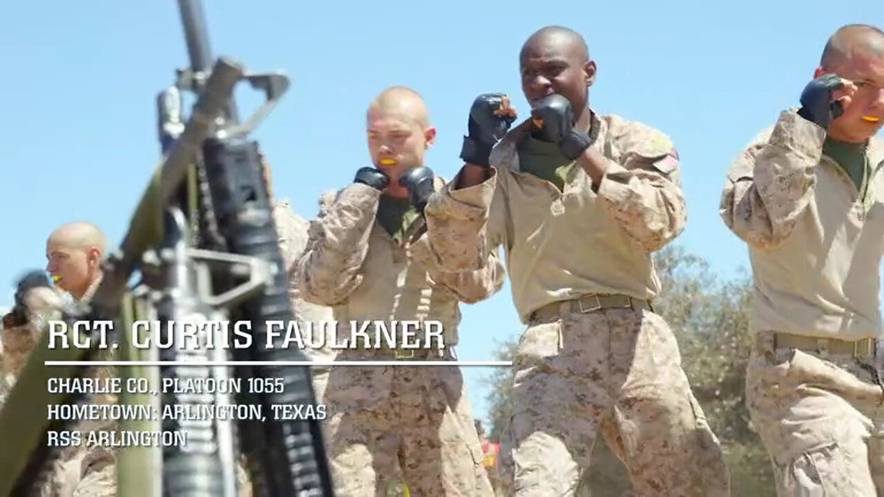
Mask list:
[[755,279],[746,401],[778,495],[881,495],[884,34],[840,29],[801,103],[737,157],[721,198]]

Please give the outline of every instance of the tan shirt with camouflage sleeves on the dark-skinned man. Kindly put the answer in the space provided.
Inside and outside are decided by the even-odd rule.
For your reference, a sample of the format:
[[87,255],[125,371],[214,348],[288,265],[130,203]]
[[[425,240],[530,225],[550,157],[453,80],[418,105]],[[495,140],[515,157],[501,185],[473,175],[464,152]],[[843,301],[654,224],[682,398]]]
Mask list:
[[453,190],[455,178],[427,205],[430,246],[442,267],[477,270],[492,249],[507,248],[522,322],[546,304],[583,294],[652,299],[659,280],[649,252],[684,229],[687,207],[672,141],[618,116],[592,119],[591,146],[610,160],[598,191],[582,167],[568,172],[563,192],[520,172],[516,146],[526,121],[493,149],[491,178]]

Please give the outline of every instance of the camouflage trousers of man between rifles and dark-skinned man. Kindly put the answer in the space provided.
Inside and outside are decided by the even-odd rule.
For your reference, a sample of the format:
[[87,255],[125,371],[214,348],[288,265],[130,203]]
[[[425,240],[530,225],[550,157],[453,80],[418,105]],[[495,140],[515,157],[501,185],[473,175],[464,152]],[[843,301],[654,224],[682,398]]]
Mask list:
[[414,496],[492,496],[458,367],[332,368],[324,402],[337,494],[383,496],[401,478]]

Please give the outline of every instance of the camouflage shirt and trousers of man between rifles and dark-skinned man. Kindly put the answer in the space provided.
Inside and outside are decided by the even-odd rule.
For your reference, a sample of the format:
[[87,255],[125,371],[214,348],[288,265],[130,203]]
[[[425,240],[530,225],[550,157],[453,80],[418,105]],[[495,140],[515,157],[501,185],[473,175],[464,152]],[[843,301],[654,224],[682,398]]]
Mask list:
[[[437,180],[442,187],[444,180]],[[394,241],[375,218],[380,192],[355,184],[324,195],[298,265],[304,300],[335,319],[438,320],[453,356],[459,302],[503,286],[497,252],[479,271],[446,274],[424,233]],[[420,219],[416,222],[422,222]],[[339,360],[390,360],[390,350],[341,350]],[[424,357],[416,357],[423,359]],[[332,476],[340,495],[384,495],[404,479],[411,495],[491,495],[461,371],[332,367],[323,401]]]

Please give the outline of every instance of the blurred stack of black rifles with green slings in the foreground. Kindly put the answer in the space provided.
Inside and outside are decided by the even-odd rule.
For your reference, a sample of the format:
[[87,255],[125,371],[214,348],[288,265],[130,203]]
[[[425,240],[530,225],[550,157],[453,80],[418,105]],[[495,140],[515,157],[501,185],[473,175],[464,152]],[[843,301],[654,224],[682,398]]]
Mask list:
[[[286,268],[271,216],[271,199],[255,141],[248,134],[288,88],[282,73],[248,73],[238,62],[212,63],[200,0],[179,0],[191,66],[158,96],[159,134],[164,158],[141,195],[118,250],[107,257],[103,279],[89,302],[67,304],[62,319],[113,321],[110,338],[118,348],[117,366],[126,379],[146,382],[159,392],[162,378],[255,378],[263,392],[237,394],[149,394],[124,389],[119,403],[163,412],[166,406],[261,406],[266,418],[236,422],[215,418],[122,419],[122,431],[187,432],[186,447],[123,447],[117,452],[118,494],[235,496],[235,469],[245,455],[255,495],[332,495],[319,421],[271,416],[271,406],[313,404],[309,361],[300,350],[269,337],[268,320],[294,319],[287,294]],[[266,102],[240,124],[232,91],[242,81],[262,89]],[[187,124],[183,92],[196,96]],[[133,276],[139,282],[130,286]],[[152,330],[151,348],[139,348],[129,333],[135,321],[179,326]],[[196,347],[179,347],[183,325],[248,321],[248,348],[206,347],[221,343],[211,326],[197,326]],[[122,333],[119,333],[122,330]],[[70,421],[47,419],[47,406],[75,405],[83,395],[54,394],[50,378],[82,378],[84,363],[103,354],[91,348],[50,348],[42,333],[0,410],[0,496],[30,495],[59,456],[50,432]],[[156,348],[156,340],[176,347]],[[273,347],[267,347],[272,344]],[[158,360],[157,360],[158,359]],[[232,359],[232,360],[231,360]],[[155,362],[155,363],[154,363]],[[158,367],[157,367],[158,366]],[[255,379],[252,381],[254,382]],[[126,381],[123,382],[126,384]],[[274,386],[281,387],[274,387]]]

